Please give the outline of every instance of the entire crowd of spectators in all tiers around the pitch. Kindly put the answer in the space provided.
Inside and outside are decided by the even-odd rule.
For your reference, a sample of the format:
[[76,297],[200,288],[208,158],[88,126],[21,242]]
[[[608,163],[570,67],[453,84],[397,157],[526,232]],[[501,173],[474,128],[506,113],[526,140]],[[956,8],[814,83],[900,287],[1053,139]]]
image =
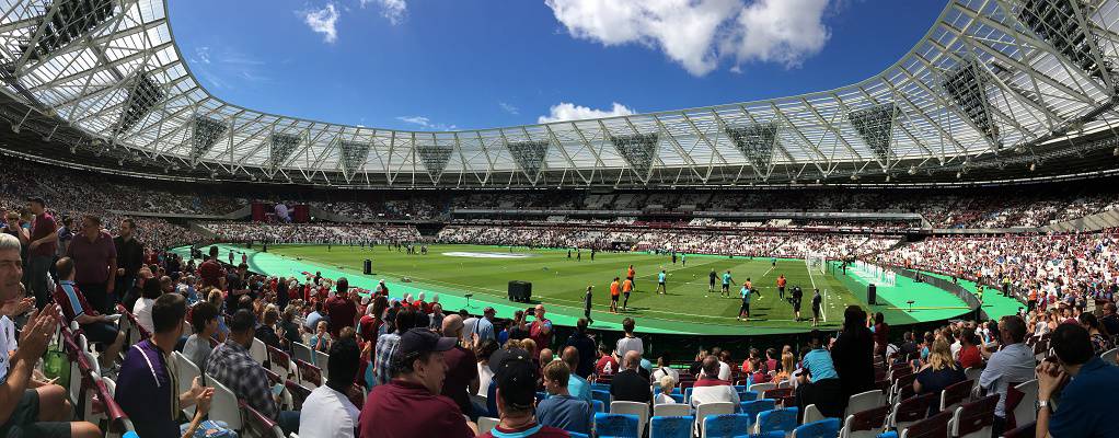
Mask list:
[[[96,425],[70,421],[75,417],[66,390],[38,371],[48,339],[59,326],[72,323],[94,344],[83,354],[96,356],[101,375],[115,382],[115,401],[140,436],[191,436],[200,428],[226,427],[204,425],[215,393],[210,379],[285,434],[308,437],[420,437],[433,430],[451,437],[586,434],[594,427],[592,388],[605,388],[613,400],[646,403],[650,409],[655,402],[677,402],[673,395],[684,388],[693,388],[686,401],[693,407],[721,401],[737,407],[746,394],[735,384],[773,382],[792,389],[782,404],[797,406],[800,412],[816,404],[825,416],[837,417],[852,395],[881,388],[883,380],[895,384],[890,391],[896,400],[940,393],[971,380],[978,393],[999,395],[991,411],[997,432],[1028,420],[1013,418],[1015,402],[1009,394],[1015,384],[1036,379],[1037,400],[1045,402],[1037,409],[1040,432],[1109,436],[1119,428],[1109,417],[1110,407],[1093,399],[1101,391],[1119,390],[1119,371],[1103,362],[1116,361],[1112,348],[1119,335],[1115,230],[931,236],[895,248],[899,237],[888,235],[648,230],[633,227],[639,221],[631,217],[596,229],[452,224],[438,235],[450,243],[854,255],[977,280],[1027,301],[1019,315],[953,321],[923,336],[903,334],[901,343],[888,336],[890,326],[881,314],[871,317],[850,307],[836,336],[814,332],[807,345],[750,350],[737,357],[712,348],[684,370],[670,366],[671,352],[650,355],[633,319],[623,321],[624,335],[613,345],[590,330],[585,319],[562,338],[543,305],[502,319],[489,308],[480,316],[443,309],[438,296],[402,297],[384,283],[363,290],[349,287],[345,278],[319,273],[253,273],[243,258],[236,263],[233,252],[223,254],[217,248],[207,249],[199,263],[166,251],[203,242],[185,226],[113,213],[206,214],[235,208],[243,198],[148,190],[50,167],[8,167],[0,176],[0,214],[7,220],[0,233],[0,435],[4,436],[101,436]],[[44,185],[44,178],[60,183]],[[29,194],[35,197],[28,199]],[[778,195],[744,195],[736,203],[712,194],[555,196],[557,205],[572,207],[724,208],[765,204]],[[874,204],[876,196],[852,194],[820,206]],[[1023,197],[1034,205],[987,199],[988,206],[980,208],[975,203],[985,198],[977,196],[921,208],[933,212],[929,217],[940,224],[1004,226],[1036,225],[1113,207],[1110,195],[1085,193],[1073,198],[1079,203],[1074,208],[1044,196]],[[504,194],[477,201],[501,208],[543,205],[542,201],[519,204],[517,197]],[[361,204],[342,203],[349,202],[323,207],[339,213],[361,209]],[[440,212],[439,202],[382,204],[394,216],[433,217]],[[421,237],[414,226],[404,225],[200,224],[225,241],[345,244]],[[125,344],[124,324],[141,334],[131,345]],[[329,354],[329,362],[312,363],[321,366],[325,379],[301,395],[301,410],[289,399],[294,397],[290,391],[275,392],[274,379],[303,371],[284,370],[266,353],[262,358],[256,354],[258,344],[292,356],[301,346]],[[178,384],[169,363],[172,352],[181,352],[206,378]],[[914,378],[897,388],[906,373]],[[1061,409],[1054,411],[1051,401],[1060,401]],[[187,408],[191,413],[184,416]],[[479,430],[481,417],[497,418],[495,430]]]

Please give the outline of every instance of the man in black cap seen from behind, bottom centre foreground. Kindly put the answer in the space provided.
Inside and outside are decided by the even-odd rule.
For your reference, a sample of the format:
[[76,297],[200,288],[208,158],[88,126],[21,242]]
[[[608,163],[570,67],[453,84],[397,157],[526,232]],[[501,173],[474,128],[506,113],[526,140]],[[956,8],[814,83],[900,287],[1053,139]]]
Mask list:
[[490,356],[490,361],[497,358],[497,366],[493,369],[493,382],[497,385],[495,399],[497,400],[498,417],[501,421],[493,430],[488,430],[480,437],[552,438],[570,436],[563,429],[536,422],[533,408],[536,402],[538,373],[528,354],[519,350],[502,350],[500,352],[505,354],[495,357],[498,356],[495,353],[493,356]]

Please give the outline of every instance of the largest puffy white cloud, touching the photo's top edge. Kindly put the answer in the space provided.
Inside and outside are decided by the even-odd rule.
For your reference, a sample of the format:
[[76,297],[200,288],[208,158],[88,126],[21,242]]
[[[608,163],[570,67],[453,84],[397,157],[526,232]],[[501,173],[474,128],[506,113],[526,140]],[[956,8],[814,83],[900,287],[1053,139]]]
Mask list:
[[720,62],[796,67],[830,37],[828,0],[546,0],[567,32],[604,46],[641,44],[703,76]]

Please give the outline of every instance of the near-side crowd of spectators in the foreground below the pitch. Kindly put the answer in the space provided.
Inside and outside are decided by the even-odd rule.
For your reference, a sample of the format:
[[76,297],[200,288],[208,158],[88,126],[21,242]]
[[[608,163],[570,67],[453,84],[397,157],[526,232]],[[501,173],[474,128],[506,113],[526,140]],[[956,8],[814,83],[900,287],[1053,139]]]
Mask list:
[[[32,203],[38,204],[30,206],[37,213],[32,224],[46,226],[46,222],[40,222],[46,221],[46,209],[39,201]],[[44,231],[36,232],[35,227],[32,234],[41,235]],[[1044,425],[1046,430],[1070,436],[1113,428],[1113,422],[1098,421],[1107,414],[1098,403],[1084,400],[1084,394],[1090,393],[1084,382],[1092,382],[1096,388],[1111,388],[1119,382],[1113,366],[1098,357],[1115,346],[1110,330],[1119,320],[1113,302],[1090,308],[1080,301],[1043,301],[1033,311],[1024,309],[1022,316],[998,321],[952,323],[924,334],[921,343],[913,334],[905,334],[901,344],[891,343],[890,327],[881,315],[871,318],[861,308],[850,307],[843,329],[835,337],[816,332],[809,336],[808,345],[789,345],[780,352],[747,351],[737,357],[726,350],[702,352],[685,371],[669,366],[670,352],[649,355],[632,319],[623,323],[626,334],[612,346],[601,345],[604,343],[587,328],[585,320],[564,339],[556,336],[543,305],[536,306],[530,315],[515,315],[513,320],[506,320],[491,309],[483,310],[481,316],[443,309],[434,296],[430,300],[423,295],[399,297],[385,286],[375,290],[350,288],[342,278],[331,280],[317,273],[300,278],[255,274],[244,263],[222,263],[236,259],[217,248],[208,249],[208,257],[201,263],[168,254],[160,258],[142,246],[139,252],[131,246],[139,243],[132,243],[130,227],[131,224],[122,224],[123,235],[116,237],[123,239],[114,240],[91,217],[84,217],[82,234],[69,242],[55,273],[45,278],[47,287],[55,290],[55,302],[65,305],[66,311],[45,302],[43,315],[53,316],[32,316],[29,325],[25,325],[25,333],[48,328],[54,333],[56,323],[51,320],[74,320],[92,343],[103,344],[104,356],[98,360],[103,362],[104,375],[115,379],[116,401],[135,419],[142,436],[164,436],[172,430],[175,435],[190,432],[201,427],[206,411],[211,409],[214,388],[207,380],[191,382],[181,394],[167,389],[173,375],[166,357],[172,351],[197,360],[208,379],[222,382],[248,408],[275,421],[285,432],[301,436],[423,436],[432,428],[444,436],[463,437],[478,432],[485,436],[590,432],[593,398],[587,398],[587,392],[593,385],[606,385],[615,401],[649,407],[655,399],[675,402],[671,397],[657,398],[659,391],[653,388],[671,395],[676,389],[690,386],[694,390],[688,402],[696,407],[705,402],[742,401],[744,394],[734,384],[787,382],[784,385],[792,388],[792,392],[787,395],[789,400],[782,401],[784,406],[816,404],[822,414],[838,416],[850,395],[880,388],[878,373],[887,369],[897,375],[901,370],[915,374],[912,391],[899,390],[899,397],[905,397],[910,392],[935,393],[968,379],[961,370],[978,367],[984,367],[974,378],[978,391],[1000,395],[993,411],[997,429],[1010,423],[1009,412],[1014,407],[1003,401],[1012,391],[1010,383],[1034,378],[1040,380],[1038,399],[1060,397],[1062,406],[1075,407],[1076,412],[1074,416],[1066,410],[1052,412],[1042,407],[1038,427]],[[770,250],[789,245],[793,252],[828,251],[828,248],[841,252],[846,245],[856,244],[848,239],[863,239],[862,244],[866,244],[866,236],[837,236],[834,241],[810,234],[768,237],[778,240]],[[811,237],[818,242],[809,243]],[[1062,236],[1049,244],[1056,246],[1054,251],[1059,252],[1054,253],[1073,254],[1074,261],[1069,263],[1081,265],[1099,259],[1112,265],[1112,237],[1110,234]],[[47,243],[51,242],[40,245]],[[960,248],[997,258],[979,246],[965,243]],[[18,286],[22,280],[21,251],[18,237],[0,237],[0,268],[11,265],[0,273],[8,276],[4,285],[16,286],[16,295],[20,293]],[[125,262],[138,253],[140,263]],[[119,273],[116,269],[128,272]],[[28,285],[38,282],[37,278],[26,280]],[[114,292],[109,285],[117,280],[123,283]],[[34,307],[34,298],[28,301],[16,295],[13,301],[4,301],[4,307],[8,302]],[[131,309],[128,319],[135,318],[147,334],[139,343],[120,345],[122,337],[114,318],[104,316],[119,314],[116,304]],[[188,319],[192,321],[189,336]],[[20,335],[20,341],[23,336]],[[286,401],[290,394],[273,393],[269,370],[274,365],[267,358],[254,356],[256,343],[292,355],[300,345],[329,353],[329,363],[320,363],[327,367],[321,371],[326,381],[305,395],[301,410]],[[28,365],[20,365],[27,360],[18,358],[20,354],[41,354],[34,345],[25,343],[25,353],[15,348],[17,358],[9,365],[13,374],[9,374],[9,383],[4,384],[34,381],[25,376]],[[125,351],[123,357],[114,357],[116,351]],[[1038,358],[1050,352],[1056,358],[1040,363]],[[739,361],[743,361],[741,365]],[[876,362],[881,365],[875,365]],[[290,370],[288,376],[300,372]],[[1078,378],[1062,389],[1063,376],[1069,374]],[[38,409],[59,412],[69,409],[64,401],[54,399],[60,390],[49,384],[40,388],[45,389],[30,390],[39,400]],[[547,395],[542,399],[537,392]],[[476,397],[482,394],[485,399]],[[176,402],[148,402],[153,399]],[[195,408],[195,414],[186,417],[188,422],[179,423],[169,413],[189,407]],[[481,417],[497,418],[496,429],[478,430]],[[11,423],[23,421],[15,417],[7,421],[9,427],[26,427]],[[49,426],[56,423],[30,421],[30,425],[46,428],[41,430],[65,427],[73,436],[97,434],[95,426],[84,422]]]

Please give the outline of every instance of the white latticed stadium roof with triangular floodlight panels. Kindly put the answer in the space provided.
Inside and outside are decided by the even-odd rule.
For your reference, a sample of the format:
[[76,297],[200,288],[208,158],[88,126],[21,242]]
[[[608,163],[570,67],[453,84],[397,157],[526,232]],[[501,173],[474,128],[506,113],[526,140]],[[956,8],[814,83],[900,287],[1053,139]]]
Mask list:
[[953,0],[897,63],[845,87],[423,132],[269,114],[210,94],[179,53],[162,0],[0,0],[0,118],[75,155],[224,179],[579,187],[959,177],[1119,146],[1117,8]]

